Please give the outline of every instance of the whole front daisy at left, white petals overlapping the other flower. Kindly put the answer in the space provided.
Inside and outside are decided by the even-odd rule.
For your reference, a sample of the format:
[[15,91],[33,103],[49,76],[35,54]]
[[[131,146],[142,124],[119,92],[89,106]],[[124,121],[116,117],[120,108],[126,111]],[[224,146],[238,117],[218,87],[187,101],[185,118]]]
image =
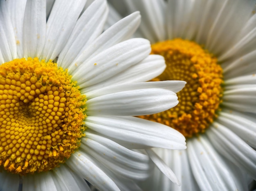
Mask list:
[[132,149],[186,146],[132,116],[177,105],[185,82],[144,82],[166,65],[128,40],[138,12],[102,33],[106,0],[48,2],[0,0],[0,190],[139,189],[152,162]]

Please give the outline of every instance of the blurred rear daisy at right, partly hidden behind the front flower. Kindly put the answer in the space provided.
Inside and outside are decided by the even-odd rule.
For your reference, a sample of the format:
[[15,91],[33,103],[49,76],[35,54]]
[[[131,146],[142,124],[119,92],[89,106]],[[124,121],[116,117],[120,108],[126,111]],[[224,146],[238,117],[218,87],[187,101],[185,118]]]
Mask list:
[[[150,40],[152,53],[164,56],[167,65],[153,81],[187,82],[177,107],[142,116],[187,138],[184,151],[155,149],[182,186],[156,170],[150,189],[246,190],[242,173],[256,179],[256,2],[110,2],[123,14],[140,11],[136,35]],[[108,24],[116,15],[110,14]]]

